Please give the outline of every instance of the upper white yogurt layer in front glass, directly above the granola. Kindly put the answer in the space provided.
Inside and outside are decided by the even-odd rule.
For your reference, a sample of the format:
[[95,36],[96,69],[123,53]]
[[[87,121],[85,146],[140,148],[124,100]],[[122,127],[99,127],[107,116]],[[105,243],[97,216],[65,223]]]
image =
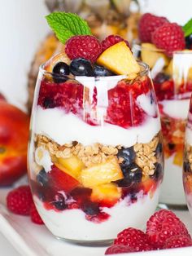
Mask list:
[[34,132],[46,135],[60,145],[78,141],[84,145],[103,143],[131,147],[135,143],[148,143],[161,128],[159,118],[154,117],[148,117],[142,126],[124,129],[105,122],[103,126],[90,126],[60,108],[43,109],[38,106],[35,114]]

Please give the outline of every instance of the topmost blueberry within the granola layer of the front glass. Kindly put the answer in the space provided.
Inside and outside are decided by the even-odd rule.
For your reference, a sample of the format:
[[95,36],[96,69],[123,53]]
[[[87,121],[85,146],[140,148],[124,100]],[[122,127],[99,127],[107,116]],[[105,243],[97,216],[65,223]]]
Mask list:
[[133,147],[130,148],[121,148],[119,152],[117,153],[117,157],[119,159],[123,159],[123,161],[120,163],[120,167],[126,168],[129,166],[135,159],[136,153],[134,152]]

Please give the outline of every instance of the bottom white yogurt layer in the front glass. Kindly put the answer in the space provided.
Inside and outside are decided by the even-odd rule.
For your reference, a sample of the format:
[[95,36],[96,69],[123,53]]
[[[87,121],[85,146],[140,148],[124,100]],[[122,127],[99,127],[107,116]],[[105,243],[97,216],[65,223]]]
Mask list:
[[71,240],[99,241],[114,239],[116,234],[126,227],[145,227],[147,219],[154,213],[158,204],[159,188],[152,198],[151,195],[143,196],[141,193],[140,197],[137,196],[137,202],[131,205],[128,205],[129,196],[126,196],[113,207],[103,208],[111,217],[102,223],[86,220],[82,210],[55,212],[46,210],[37,197],[34,197],[34,201],[46,227],[55,236]]

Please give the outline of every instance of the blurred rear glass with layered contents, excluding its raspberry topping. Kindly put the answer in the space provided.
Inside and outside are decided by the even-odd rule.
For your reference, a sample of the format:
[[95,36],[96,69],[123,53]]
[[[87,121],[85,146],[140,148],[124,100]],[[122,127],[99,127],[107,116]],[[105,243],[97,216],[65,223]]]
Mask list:
[[175,51],[168,57],[150,43],[133,46],[133,55],[151,68],[159,104],[164,141],[164,182],[159,202],[185,208],[182,163],[185,124],[192,91],[192,51]]

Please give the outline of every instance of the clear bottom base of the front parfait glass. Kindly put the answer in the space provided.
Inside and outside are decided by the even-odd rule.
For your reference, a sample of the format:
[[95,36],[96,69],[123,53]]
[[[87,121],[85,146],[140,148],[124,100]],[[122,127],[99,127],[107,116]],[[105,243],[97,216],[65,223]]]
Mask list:
[[82,246],[93,246],[93,247],[104,247],[109,246],[113,243],[113,239],[102,240],[102,241],[84,241],[84,240],[72,240],[56,236],[59,241],[65,241],[71,244],[82,245]]

